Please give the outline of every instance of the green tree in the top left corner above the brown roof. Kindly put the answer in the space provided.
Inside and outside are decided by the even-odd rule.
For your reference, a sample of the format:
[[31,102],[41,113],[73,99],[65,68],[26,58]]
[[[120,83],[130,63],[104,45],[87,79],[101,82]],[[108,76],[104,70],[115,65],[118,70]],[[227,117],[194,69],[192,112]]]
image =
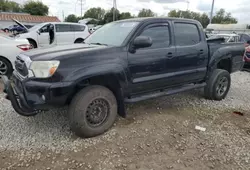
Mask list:
[[0,0],[0,11],[3,12],[21,12],[20,4],[14,1]]

